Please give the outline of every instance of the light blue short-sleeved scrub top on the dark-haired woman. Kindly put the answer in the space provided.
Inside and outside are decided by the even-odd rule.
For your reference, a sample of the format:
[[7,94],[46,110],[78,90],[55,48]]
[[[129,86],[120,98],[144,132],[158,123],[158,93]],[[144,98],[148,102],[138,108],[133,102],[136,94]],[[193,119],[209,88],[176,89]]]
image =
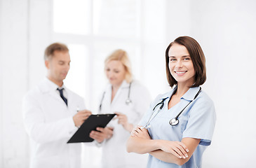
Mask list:
[[[157,113],[161,105],[157,106],[153,111],[154,106],[159,104],[162,99],[168,97],[164,101],[164,106],[159,113],[151,120],[149,125],[149,134],[151,139],[164,139],[168,141],[182,141],[183,138],[190,137],[195,139],[201,139],[199,145],[194,151],[193,155],[184,165],[179,166],[173,163],[163,162],[153,156],[149,155],[149,160],[147,167],[189,167],[189,168],[200,168],[203,151],[206,150],[207,146],[210,145],[211,139],[213,137],[213,130],[215,127],[215,108],[213,101],[208,97],[208,95],[201,91],[198,97],[194,99],[196,93],[199,91],[199,87],[191,87],[180,99],[180,102],[168,109],[168,102],[171,95],[173,94],[173,89],[171,92],[166,94],[161,94],[154,102],[151,103],[149,111],[144,115],[139,125],[146,125],[152,116],[152,113]],[[189,102],[193,100],[191,104]],[[189,104],[189,106],[187,106]],[[186,109],[184,107],[187,106]],[[182,114],[178,118],[180,123],[175,126],[169,124],[170,119],[175,118],[180,111]],[[154,116],[153,114],[153,116]]]

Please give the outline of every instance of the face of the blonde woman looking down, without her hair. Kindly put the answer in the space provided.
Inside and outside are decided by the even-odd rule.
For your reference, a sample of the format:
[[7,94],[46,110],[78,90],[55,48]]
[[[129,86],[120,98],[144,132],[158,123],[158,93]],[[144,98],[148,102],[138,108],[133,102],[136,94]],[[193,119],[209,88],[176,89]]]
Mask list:
[[109,83],[111,83],[114,87],[119,87],[123,83],[126,76],[126,69],[124,68],[122,62],[118,60],[107,62],[105,72]]

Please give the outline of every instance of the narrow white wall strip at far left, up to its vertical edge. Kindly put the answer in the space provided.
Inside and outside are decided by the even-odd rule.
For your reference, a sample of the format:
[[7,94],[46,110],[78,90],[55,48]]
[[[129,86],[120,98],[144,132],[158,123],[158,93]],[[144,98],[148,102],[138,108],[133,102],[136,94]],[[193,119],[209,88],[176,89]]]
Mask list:
[[25,167],[27,162],[20,113],[20,98],[27,91],[27,8],[27,1],[1,1],[0,167]]

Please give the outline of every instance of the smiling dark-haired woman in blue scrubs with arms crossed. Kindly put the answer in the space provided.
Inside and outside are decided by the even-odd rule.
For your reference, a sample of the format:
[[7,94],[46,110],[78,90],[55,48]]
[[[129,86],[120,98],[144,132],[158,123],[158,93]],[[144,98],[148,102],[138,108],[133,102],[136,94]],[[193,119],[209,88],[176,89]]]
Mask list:
[[[127,151],[149,153],[147,167],[151,168],[201,167],[203,151],[213,136],[215,108],[201,91],[206,59],[194,38],[180,36],[168,45],[166,75],[174,89],[151,103],[140,126],[131,133]],[[177,125],[173,118],[179,121]]]

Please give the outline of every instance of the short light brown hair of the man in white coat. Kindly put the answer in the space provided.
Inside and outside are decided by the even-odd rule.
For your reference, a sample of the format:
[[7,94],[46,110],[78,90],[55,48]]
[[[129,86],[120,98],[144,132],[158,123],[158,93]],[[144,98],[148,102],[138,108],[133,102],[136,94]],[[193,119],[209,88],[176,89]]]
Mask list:
[[52,43],[46,48],[44,52],[44,60],[48,60],[53,57],[55,51],[69,52],[69,48],[67,48],[67,45],[64,43]]

